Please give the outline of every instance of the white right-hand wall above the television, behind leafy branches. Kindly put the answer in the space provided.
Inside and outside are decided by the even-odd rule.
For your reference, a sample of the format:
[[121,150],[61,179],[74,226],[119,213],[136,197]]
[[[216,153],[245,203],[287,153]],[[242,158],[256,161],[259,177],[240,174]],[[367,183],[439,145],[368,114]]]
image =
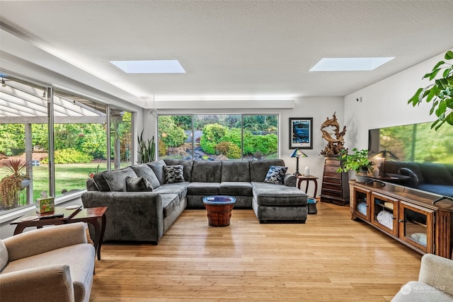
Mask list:
[[[345,146],[349,149],[367,149],[369,129],[436,120],[435,115],[430,116],[430,104],[423,103],[414,108],[408,104],[408,100],[418,88],[428,85],[429,81],[422,80],[422,77],[444,55],[445,52],[347,95],[345,122],[348,134]],[[357,102],[357,98],[362,98],[362,102]]]

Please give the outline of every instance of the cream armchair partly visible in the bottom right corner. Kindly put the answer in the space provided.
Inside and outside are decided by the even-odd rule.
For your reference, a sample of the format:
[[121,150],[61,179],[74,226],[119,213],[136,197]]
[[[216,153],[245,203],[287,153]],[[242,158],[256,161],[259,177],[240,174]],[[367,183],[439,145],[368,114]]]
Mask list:
[[409,281],[401,286],[391,301],[453,301],[453,260],[432,254],[423,255],[418,281]]

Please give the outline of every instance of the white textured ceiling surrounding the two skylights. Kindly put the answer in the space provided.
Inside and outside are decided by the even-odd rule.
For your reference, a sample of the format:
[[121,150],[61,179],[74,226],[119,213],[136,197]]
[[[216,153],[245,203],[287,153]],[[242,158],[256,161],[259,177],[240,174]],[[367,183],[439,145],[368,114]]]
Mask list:
[[[452,13],[453,1],[0,1],[4,30],[129,100],[348,95],[452,49]],[[309,72],[321,57],[396,59]],[[122,59],[178,59],[187,74],[127,75],[109,63]]]

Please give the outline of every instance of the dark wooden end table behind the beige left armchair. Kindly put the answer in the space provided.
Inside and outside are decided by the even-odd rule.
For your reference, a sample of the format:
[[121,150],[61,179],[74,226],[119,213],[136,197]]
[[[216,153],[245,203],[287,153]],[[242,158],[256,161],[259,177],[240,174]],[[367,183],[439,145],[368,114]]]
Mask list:
[[[16,229],[13,235],[22,233],[25,228],[36,227],[42,228],[42,226],[57,226],[65,223],[85,222],[90,223],[94,228],[95,238],[94,249],[98,255],[98,260],[101,260],[101,245],[104,238],[105,232],[105,211],[108,207],[96,207],[96,208],[79,208],[79,209],[66,209],[65,207],[55,207],[55,211],[47,213],[36,213],[35,209],[28,211],[25,215],[11,222],[10,224],[16,224]],[[50,214],[64,214],[62,218],[52,219],[35,219],[31,221],[23,221],[25,217],[29,216],[45,216]]]

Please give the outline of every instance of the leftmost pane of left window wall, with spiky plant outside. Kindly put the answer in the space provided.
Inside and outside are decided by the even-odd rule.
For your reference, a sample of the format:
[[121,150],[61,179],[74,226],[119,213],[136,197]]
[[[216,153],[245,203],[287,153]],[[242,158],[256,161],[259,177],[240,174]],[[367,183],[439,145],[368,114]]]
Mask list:
[[[0,213],[25,207],[49,188],[47,88],[1,75]],[[27,164],[28,163],[28,164]]]

